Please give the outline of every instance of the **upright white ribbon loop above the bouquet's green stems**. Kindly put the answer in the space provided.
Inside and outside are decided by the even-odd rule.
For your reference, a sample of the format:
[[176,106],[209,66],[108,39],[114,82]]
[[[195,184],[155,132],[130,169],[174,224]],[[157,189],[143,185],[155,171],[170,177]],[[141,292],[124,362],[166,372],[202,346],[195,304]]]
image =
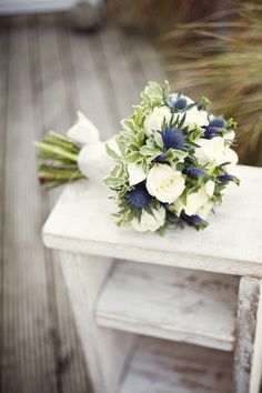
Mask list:
[[67,135],[80,145],[99,143],[99,130],[85,115],[78,111],[78,121],[72,125]]

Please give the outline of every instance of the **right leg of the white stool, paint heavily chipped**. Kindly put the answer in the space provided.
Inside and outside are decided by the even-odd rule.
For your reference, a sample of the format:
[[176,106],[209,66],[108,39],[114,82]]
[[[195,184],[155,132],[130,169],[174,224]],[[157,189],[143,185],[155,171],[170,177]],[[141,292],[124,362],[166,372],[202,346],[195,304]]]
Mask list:
[[235,329],[234,393],[259,393],[262,372],[261,280],[240,280]]

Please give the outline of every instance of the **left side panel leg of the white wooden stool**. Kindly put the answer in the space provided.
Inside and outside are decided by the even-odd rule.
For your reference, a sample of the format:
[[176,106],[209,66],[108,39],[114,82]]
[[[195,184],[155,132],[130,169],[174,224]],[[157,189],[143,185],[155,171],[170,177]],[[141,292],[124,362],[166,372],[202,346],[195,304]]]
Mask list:
[[135,336],[95,323],[95,301],[113,261],[67,252],[60,260],[93,391],[114,393]]

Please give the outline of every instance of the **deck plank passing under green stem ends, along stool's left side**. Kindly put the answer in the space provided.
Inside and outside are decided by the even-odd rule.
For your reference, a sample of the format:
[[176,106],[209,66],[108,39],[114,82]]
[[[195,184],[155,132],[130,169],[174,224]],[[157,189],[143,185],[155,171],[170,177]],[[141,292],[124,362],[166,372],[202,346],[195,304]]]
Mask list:
[[[36,109],[41,122],[38,130],[36,127],[34,139],[40,139],[48,128],[66,131],[72,123],[75,117],[77,87],[64,18],[61,16],[38,18],[33,33],[37,36],[37,42],[32,49],[39,57],[38,72],[33,73],[34,85],[41,87],[39,97],[36,97]],[[54,105],[57,102],[59,102],[59,110],[58,105]],[[50,205],[53,205],[59,193],[60,190],[57,190],[47,198],[47,192],[42,191],[42,218],[48,214]],[[53,322],[52,340],[58,386],[63,393],[89,391],[83,351],[77,336],[58,253],[51,255],[46,252],[46,269],[50,299],[49,312]]]

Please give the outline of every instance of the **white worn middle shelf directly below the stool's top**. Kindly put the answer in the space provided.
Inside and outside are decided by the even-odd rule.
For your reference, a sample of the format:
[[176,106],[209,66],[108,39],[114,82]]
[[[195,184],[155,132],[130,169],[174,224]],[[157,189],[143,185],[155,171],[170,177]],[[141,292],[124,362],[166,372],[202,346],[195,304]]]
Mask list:
[[101,326],[232,351],[238,286],[236,276],[118,261],[95,319]]

